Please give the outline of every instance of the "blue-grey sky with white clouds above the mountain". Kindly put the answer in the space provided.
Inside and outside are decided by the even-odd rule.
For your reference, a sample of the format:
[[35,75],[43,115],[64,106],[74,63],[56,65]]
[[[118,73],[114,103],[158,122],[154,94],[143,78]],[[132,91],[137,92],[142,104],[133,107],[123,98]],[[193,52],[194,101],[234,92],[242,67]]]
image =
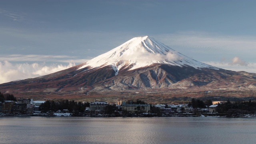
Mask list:
[[0,0],[0,84],[70,68],[150,36],[256,73],[255,0]]

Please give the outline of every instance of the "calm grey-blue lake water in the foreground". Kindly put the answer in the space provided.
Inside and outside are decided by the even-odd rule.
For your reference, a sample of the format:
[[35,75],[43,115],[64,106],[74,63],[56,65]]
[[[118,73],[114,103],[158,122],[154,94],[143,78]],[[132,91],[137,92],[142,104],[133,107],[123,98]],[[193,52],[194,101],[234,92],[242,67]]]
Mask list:
[[256,119],[0,117],[1,144],[255,144]]

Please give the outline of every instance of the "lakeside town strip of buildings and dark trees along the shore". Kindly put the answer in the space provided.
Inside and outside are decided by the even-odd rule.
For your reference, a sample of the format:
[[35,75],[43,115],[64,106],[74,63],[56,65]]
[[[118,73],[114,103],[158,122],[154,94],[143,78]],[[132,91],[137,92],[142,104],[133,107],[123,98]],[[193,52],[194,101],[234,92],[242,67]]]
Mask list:
[[256,118],[256,102],[202,101],[192,98],[187,104],[147,104],[142,100],[75,102],[74,100],[17,99],[0,92],[0,116],[92,116],[154,117],[215,116]]

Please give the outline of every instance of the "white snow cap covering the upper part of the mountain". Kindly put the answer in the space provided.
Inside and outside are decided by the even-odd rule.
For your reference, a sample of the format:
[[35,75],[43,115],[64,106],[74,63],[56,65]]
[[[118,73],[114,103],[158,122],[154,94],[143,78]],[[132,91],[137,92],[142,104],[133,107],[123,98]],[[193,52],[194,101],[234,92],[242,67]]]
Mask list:
[[123,66],[130,66],[129,70],[134,70],[155,63],[217,69],[184,56],[149,36],[132,38],[109,52],[86,61],[84,66],[79,69],[88,66],[90,68],[100,68],[110,65],[118,74]]

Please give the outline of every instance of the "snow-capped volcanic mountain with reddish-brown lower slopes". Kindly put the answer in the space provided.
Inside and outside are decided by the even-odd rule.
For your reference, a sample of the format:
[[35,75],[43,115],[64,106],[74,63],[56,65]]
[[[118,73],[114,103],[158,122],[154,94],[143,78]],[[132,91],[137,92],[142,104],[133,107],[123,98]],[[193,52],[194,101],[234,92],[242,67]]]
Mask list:
[[[239,97],[240,91],[253,95],[255,88],[256,74],[198,62],[148,36],[132,38],[66,70],[0,84],[0,92],[23,98],[95,98],[135,91],[148,94],[149,90],[158,92],[158,96],[169,95],[171,91],[176,92],[174,96],[188,96],[188,92],[198,96],[198,92],[210,90],[213,96],[216,92],[218,96],[226,93]],[[201,96],[204,94],[202,92]]]

